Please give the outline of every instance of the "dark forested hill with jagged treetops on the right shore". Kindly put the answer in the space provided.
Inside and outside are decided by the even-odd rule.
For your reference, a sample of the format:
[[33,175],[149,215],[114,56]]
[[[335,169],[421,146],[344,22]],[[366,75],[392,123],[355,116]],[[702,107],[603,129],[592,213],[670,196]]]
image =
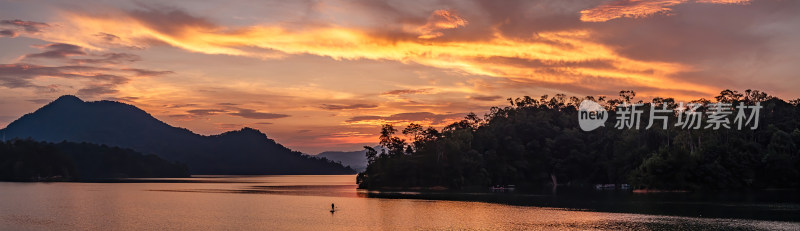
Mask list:
[[[730,107],[758,103],[763,108],[757,128],[688,129],[675,126],[680,113],[671,113],[667,129],[658,120],[646,129],[651,105],[672,110],[682,105],[672,98],[643,102],[635,96],[633,91],[621,91],[616,99],[563,94],[509,98],[509,106],[493,107],[482,118],[470,113],[441,131],[413,123],[398,130],[386,124],[381,148],[364,147],[368,167],[357,181],[361,188],[453,190],[594,184],[652,190],[798,187],[800,100],[786,102],[757,90],[725,90],[712,100],[687,103],[706,105],[696,109],[704,117],[708,105],[716,102]],[[580,129],[578,106],[585,99],[608,110],[604,127]],[[641,127],[615,128],[617,106],[636,103],[643,105]],[[730,121],[736,115],[733,110],[727,117]]]

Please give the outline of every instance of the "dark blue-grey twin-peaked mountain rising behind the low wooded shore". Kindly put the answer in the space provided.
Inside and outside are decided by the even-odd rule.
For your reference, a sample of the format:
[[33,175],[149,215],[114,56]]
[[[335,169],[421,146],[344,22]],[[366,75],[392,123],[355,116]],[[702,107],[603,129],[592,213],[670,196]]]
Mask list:
[[278,144],[252,128],[204,136],[115,101],[65,95],[0,130],[7,138],[130,148],[188,165],[192,174],[352,174],[332,161]]

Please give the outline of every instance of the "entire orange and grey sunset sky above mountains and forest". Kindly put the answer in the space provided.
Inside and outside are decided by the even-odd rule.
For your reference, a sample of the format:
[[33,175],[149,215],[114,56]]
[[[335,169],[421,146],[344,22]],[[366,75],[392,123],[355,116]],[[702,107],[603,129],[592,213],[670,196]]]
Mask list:
[[359,150],[508,97],[800,97],[800,1],[0,0],[0,128],[58,96]]

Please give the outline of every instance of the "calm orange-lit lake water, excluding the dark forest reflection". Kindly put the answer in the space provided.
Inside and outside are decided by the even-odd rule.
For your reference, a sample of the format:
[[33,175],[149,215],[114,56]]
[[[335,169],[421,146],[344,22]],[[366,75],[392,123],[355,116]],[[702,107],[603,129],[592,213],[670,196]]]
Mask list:
[[[800,223],[375,198],[355,176],[0,182],[0,230],[800,230]],[[338,211],[330,213],[330,204]],[[791,210],[790,208],[789,210]]]

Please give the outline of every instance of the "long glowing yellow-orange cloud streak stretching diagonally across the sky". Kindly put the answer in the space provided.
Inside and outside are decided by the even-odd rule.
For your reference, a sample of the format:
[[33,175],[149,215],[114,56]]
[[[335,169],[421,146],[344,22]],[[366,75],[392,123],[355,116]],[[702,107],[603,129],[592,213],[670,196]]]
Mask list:
[[[663,5],[669,1],[661,2]],[[107,39],[96,36],[103,33],[115,36],[117,45],[126,47],[168,44],[198,53],[257,58],[312,54],[336,60],[392,60],[550,85],[586,85],[585,79],[599,79],[631,88],[709,94],[717,90],[670,78],[690,71],[689,66],[623,57],[612,47],[593,42],[593,32],[588,30],[541,32],[530,38],[509,38],[495,33],[488,40],[435,41],[402,36],[387,38],[333,25],[292,30],[272,25],[227,28],[175,12],[122,15],[125,16],[67,13],[67,21],[61,23],[60,30],[43,36],[49,41],[95,49],[102,49],[102,44],[108,43]],[[169,18],[174,15],[180,17]],[[152,23],[153,18],[160,23]],[[465,25],[466,21],[449,11],[436,11],[428,24],[431,29],[454,28]],[[589,64],[581,65],[586,63]],[[587,87],[602,89],[596,84]]]

